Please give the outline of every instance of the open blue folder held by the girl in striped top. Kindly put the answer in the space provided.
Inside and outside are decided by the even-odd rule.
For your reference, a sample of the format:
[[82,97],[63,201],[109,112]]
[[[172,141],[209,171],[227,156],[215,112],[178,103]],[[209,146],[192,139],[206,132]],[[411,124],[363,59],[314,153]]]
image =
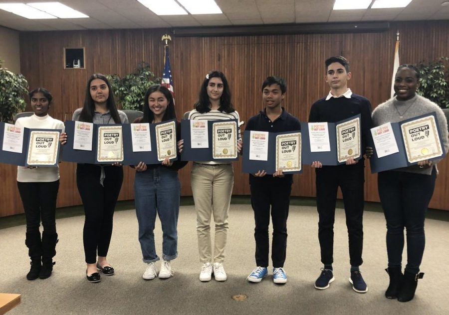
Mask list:
[[[236,124],[235,130],[238,137],[238,122],[236,119],[229,120],[203,120],[208,122],[208,148],[192,148],[191,135],[190,135],[190,119],[181,120],[181,139],[184,139],[183,152],[181,153],[182,161],[237,161],[237,157],[234,159],[214,159],[212,156],[212,131],[214,122],[229,122],[234,121]],[[235,148],[236,149],[236,148]]]

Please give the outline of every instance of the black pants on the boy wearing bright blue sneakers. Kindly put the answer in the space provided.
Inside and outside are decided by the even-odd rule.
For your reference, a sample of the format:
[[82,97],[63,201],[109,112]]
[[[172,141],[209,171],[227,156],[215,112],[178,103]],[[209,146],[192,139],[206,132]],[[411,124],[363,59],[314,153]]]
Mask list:
[[[266,175],[271,176],[271,175]],[[268,267],[269,238],[268,226],[273,222],[271,260],[274,268],[284,266],[287,250],[287,217],[290,205],[291,183],[284,181],[252,183],[251,206],[254,210],[255,260],[257,266]]]

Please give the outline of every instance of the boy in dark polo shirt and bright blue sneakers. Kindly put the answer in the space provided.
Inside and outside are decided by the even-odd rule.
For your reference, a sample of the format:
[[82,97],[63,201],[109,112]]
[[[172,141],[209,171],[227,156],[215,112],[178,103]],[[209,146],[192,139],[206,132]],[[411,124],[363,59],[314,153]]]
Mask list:
[[[270,76],[262,84],[262,99],[265,109],[249,118],[245,130],[283,132],[301,129],[299,120],[281,107],[287,85],[284,79]],[[271,260],[273,263],[273,281],[287,282],[284,270],[287,250],[287,217],[290,204],[292,174],[283,174],[282,169],[274,174],[259,170],[249,174],[251,206],[254,210],[254,239],[256,243],[255,260],[257,267],[246,278],[249,282],[260,282],[268,273],[268,226],[273,222],[273,240]],[[271,208],[271,209],[270,209]]]

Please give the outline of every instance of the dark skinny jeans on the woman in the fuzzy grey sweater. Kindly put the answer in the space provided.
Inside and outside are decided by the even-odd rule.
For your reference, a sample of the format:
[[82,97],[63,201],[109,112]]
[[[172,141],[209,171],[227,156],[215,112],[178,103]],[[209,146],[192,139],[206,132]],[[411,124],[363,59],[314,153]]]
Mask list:
[[379,197],[387,220],[388,266],[402,265],[404,227],[407,229],[406,270],[417,274],[423,259],[426,236],[424,219],[434,194],[437,172],[432,175],[386,171],[378,175]]

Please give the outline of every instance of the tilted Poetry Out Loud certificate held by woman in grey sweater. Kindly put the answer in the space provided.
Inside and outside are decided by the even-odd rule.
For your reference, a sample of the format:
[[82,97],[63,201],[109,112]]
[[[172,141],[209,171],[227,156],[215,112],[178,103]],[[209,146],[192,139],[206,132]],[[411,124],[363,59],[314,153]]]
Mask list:
[[415,119],[401,125],[409,163],[424,161],[443,154],[435,116]]

